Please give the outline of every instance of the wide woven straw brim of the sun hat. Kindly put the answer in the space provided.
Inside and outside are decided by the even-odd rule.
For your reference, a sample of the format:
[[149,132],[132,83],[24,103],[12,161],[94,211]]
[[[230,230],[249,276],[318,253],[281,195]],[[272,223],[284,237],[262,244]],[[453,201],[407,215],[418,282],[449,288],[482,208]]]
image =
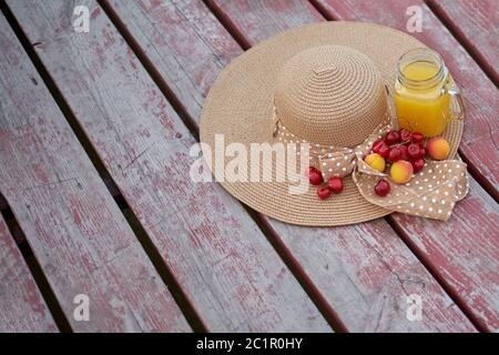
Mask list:
[[[213,154],[215,134],[223,134],[225,145],[242,143],[272,143],[271,118],[273,113],[276,78],[284,63],[298,52],[326,45],[340,44],[354,48],[369,57],[389,85],[395,82],[398,59],[405,52],[425,47],[420,41],[388,27],[334,21],[314,23],[289,30],[252,48],[218,75],[213,84],[201,118],[201,142],[210,145],[204,155]],[[462,121],[451,121],[444,133],[451,153],[462,134]],[[231,158],[226,158],[226,162]],[[273,162],[272,166],[276,162]],[[223,164],[213,164],[220,176]],[[288,182],[221,182],[236,199],[252,209],[276,220],[314,226],[354,224],[385,216],[390,211],[369,203],[361,196],[352,176],[344,179],[344,191],[326,201],[317,197],[310,186],[305,194],[291,194]]]

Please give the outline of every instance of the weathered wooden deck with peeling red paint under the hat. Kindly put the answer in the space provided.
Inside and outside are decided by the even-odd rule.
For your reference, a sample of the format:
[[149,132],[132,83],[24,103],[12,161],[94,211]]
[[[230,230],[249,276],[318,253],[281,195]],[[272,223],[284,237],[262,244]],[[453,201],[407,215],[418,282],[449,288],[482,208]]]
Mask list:
[[[0,332],[498,332],[499,9],[473,3],[0,0]],[[407,31],[413,4],[468,109],[470,193],[447,223],[294,226],[191,182],[232,59],[315,21]]]

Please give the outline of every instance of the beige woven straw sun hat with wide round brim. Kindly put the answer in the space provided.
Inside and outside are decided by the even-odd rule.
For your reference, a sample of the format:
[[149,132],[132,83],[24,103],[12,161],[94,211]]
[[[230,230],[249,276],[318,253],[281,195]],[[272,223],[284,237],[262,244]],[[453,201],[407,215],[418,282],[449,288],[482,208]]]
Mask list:
[[[218,134],[225,146],[238,143],[248,152],[252,143],[306,141],[316,164],[322,162],[320,150],[359,146],[377,135],[378,129],[391,126],[387,89],[395,82],[398,59],[421,47],[400,31],[347,21],[309,24],[271,38],[234,60],[213,84],[201,120],[204,156],[216,161]],[[451,145],[451,156],[461,133],[462,121],[448,124],[444,136]],[[335,171],[346,172],[344,191],[326,201],[317,197],[314,186],[304,194],[289,193],[289,181],[230,182],[221,176],[227,173],[233,156],[211,169],[232,195],[268,216],[303,225],[344,225],[394,211],[366,199],[368,193],[358,186],[361,176],[354,181],[349,164],[354,164],[355,153],[334,163]],[[272,176],[279,164],[283,162],[273,155]],[[265,174],[265,166],[257,169]]]

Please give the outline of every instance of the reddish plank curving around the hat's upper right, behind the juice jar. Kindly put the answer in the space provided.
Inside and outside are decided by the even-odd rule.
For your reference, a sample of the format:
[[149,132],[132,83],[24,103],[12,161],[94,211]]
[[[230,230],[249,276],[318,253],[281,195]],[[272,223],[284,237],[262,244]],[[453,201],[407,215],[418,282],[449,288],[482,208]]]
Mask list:
[[499,200],[499,91],[480,67],[466,52],[422,0],[314,0],[329,18],[377,22],[400,31],[406,30],[407,8],[422,10],[422,32],[410,33],[438,51],[462,91],[468,115],[460,145],[464,159],[470,163],[475,176]]

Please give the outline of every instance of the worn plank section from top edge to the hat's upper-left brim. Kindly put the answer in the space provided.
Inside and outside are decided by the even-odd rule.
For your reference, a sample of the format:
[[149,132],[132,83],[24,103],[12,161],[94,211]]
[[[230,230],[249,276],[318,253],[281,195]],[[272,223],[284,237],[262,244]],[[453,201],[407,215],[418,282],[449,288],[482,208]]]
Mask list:
[[[202,1],[106,1],[196,120],[217,73],[241,47]],[[112,4],[112,6],[111,6]],[[152,37],[151,37],[152,34]]]

